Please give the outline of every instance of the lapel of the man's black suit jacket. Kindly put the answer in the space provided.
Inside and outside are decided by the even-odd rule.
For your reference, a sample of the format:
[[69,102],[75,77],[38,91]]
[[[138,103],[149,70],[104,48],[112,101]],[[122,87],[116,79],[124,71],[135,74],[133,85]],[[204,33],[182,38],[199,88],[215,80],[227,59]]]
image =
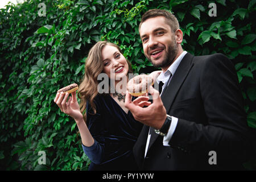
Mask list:
[[[177,67],[175,74],[172,76],[170,84],[164,88],[163,93],[161,95],[163,105],[166,107],[166,111],[170,110],[170,107],[174,101],[174,98],[177,94],[177,92],[180,89],[180,86],[184,82],[185,78],[187,77],[189,71],[193,67],[193,64],[191,64],[193,56],[190,53],[187,53],[183,59],[181,60],[179,67]],[[158,138],[159,135],[156,133],[152,133],[150,137],[150,143],[148,145],[148,150],[150,150],[150,147],[155,142],[156,138]]]

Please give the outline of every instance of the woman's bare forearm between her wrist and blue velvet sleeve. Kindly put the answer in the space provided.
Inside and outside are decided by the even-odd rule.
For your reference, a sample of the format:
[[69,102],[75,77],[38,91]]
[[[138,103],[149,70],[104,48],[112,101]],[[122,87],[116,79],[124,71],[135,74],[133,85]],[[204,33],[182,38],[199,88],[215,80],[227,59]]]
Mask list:
[[81,135],[82,144],[84,144],[84,146],[86,146],[86,147],[92,146],[94,143],[94,139],[93,139],[92,135],[90,134],[90,131],[89,131],[88,127],[86,126],[84,119],[81,118],[79,120],[76,120],[76,124],[77,124],[77,127],[78,127],[80,135]]

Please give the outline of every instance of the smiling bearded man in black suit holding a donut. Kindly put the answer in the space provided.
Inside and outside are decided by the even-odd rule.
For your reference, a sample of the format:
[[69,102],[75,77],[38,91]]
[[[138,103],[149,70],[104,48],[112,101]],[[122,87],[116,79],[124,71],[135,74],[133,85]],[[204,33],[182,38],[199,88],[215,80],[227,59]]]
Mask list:
[[144,123],[134,146],[139,167],[243,169],[250,136],[232,62],[220,53],[193,56],[183,51],[183,32],[165,10],[147,11],[139,34],[144,55],[162,68],[155,84],[163,90],[150,87],[152,103],[144,96],[132,102],[126,94],[125,106]]

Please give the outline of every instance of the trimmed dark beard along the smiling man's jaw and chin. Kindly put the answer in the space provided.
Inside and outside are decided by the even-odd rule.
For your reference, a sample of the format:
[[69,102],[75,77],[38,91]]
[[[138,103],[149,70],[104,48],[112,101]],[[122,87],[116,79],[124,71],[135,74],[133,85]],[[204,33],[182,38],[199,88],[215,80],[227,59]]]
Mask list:
[[154,65],[154,67],[165,68],[167,66],[170,66],[174,62],[177,52],[178,52],[177,43],[174,41],[174,42],[172,42],[172,44],[170,46],[168,46],[167,54],[166,54],[166,56],[164,56],[164,59],[161,63],[158,63],[158,64],[154,63],[150,59],[150,57],[147,57],[147,59],[152,63],[152,65]]

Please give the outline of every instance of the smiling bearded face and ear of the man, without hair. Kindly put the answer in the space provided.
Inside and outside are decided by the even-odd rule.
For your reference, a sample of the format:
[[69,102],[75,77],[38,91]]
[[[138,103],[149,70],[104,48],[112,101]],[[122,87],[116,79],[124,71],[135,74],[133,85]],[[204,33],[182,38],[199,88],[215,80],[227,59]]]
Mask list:
[[[157,25],[157,28],[151,24]],[[183,34],[179,29],[179,24],[176,23],[176,26],[172,28],[177,31],[172,32],[164,16],[148,19],[139,27],[144,55],[155,67],[160,67],[164,71],[183,52],[180,45]],[[175,36],[177,36],[177,42]]]

